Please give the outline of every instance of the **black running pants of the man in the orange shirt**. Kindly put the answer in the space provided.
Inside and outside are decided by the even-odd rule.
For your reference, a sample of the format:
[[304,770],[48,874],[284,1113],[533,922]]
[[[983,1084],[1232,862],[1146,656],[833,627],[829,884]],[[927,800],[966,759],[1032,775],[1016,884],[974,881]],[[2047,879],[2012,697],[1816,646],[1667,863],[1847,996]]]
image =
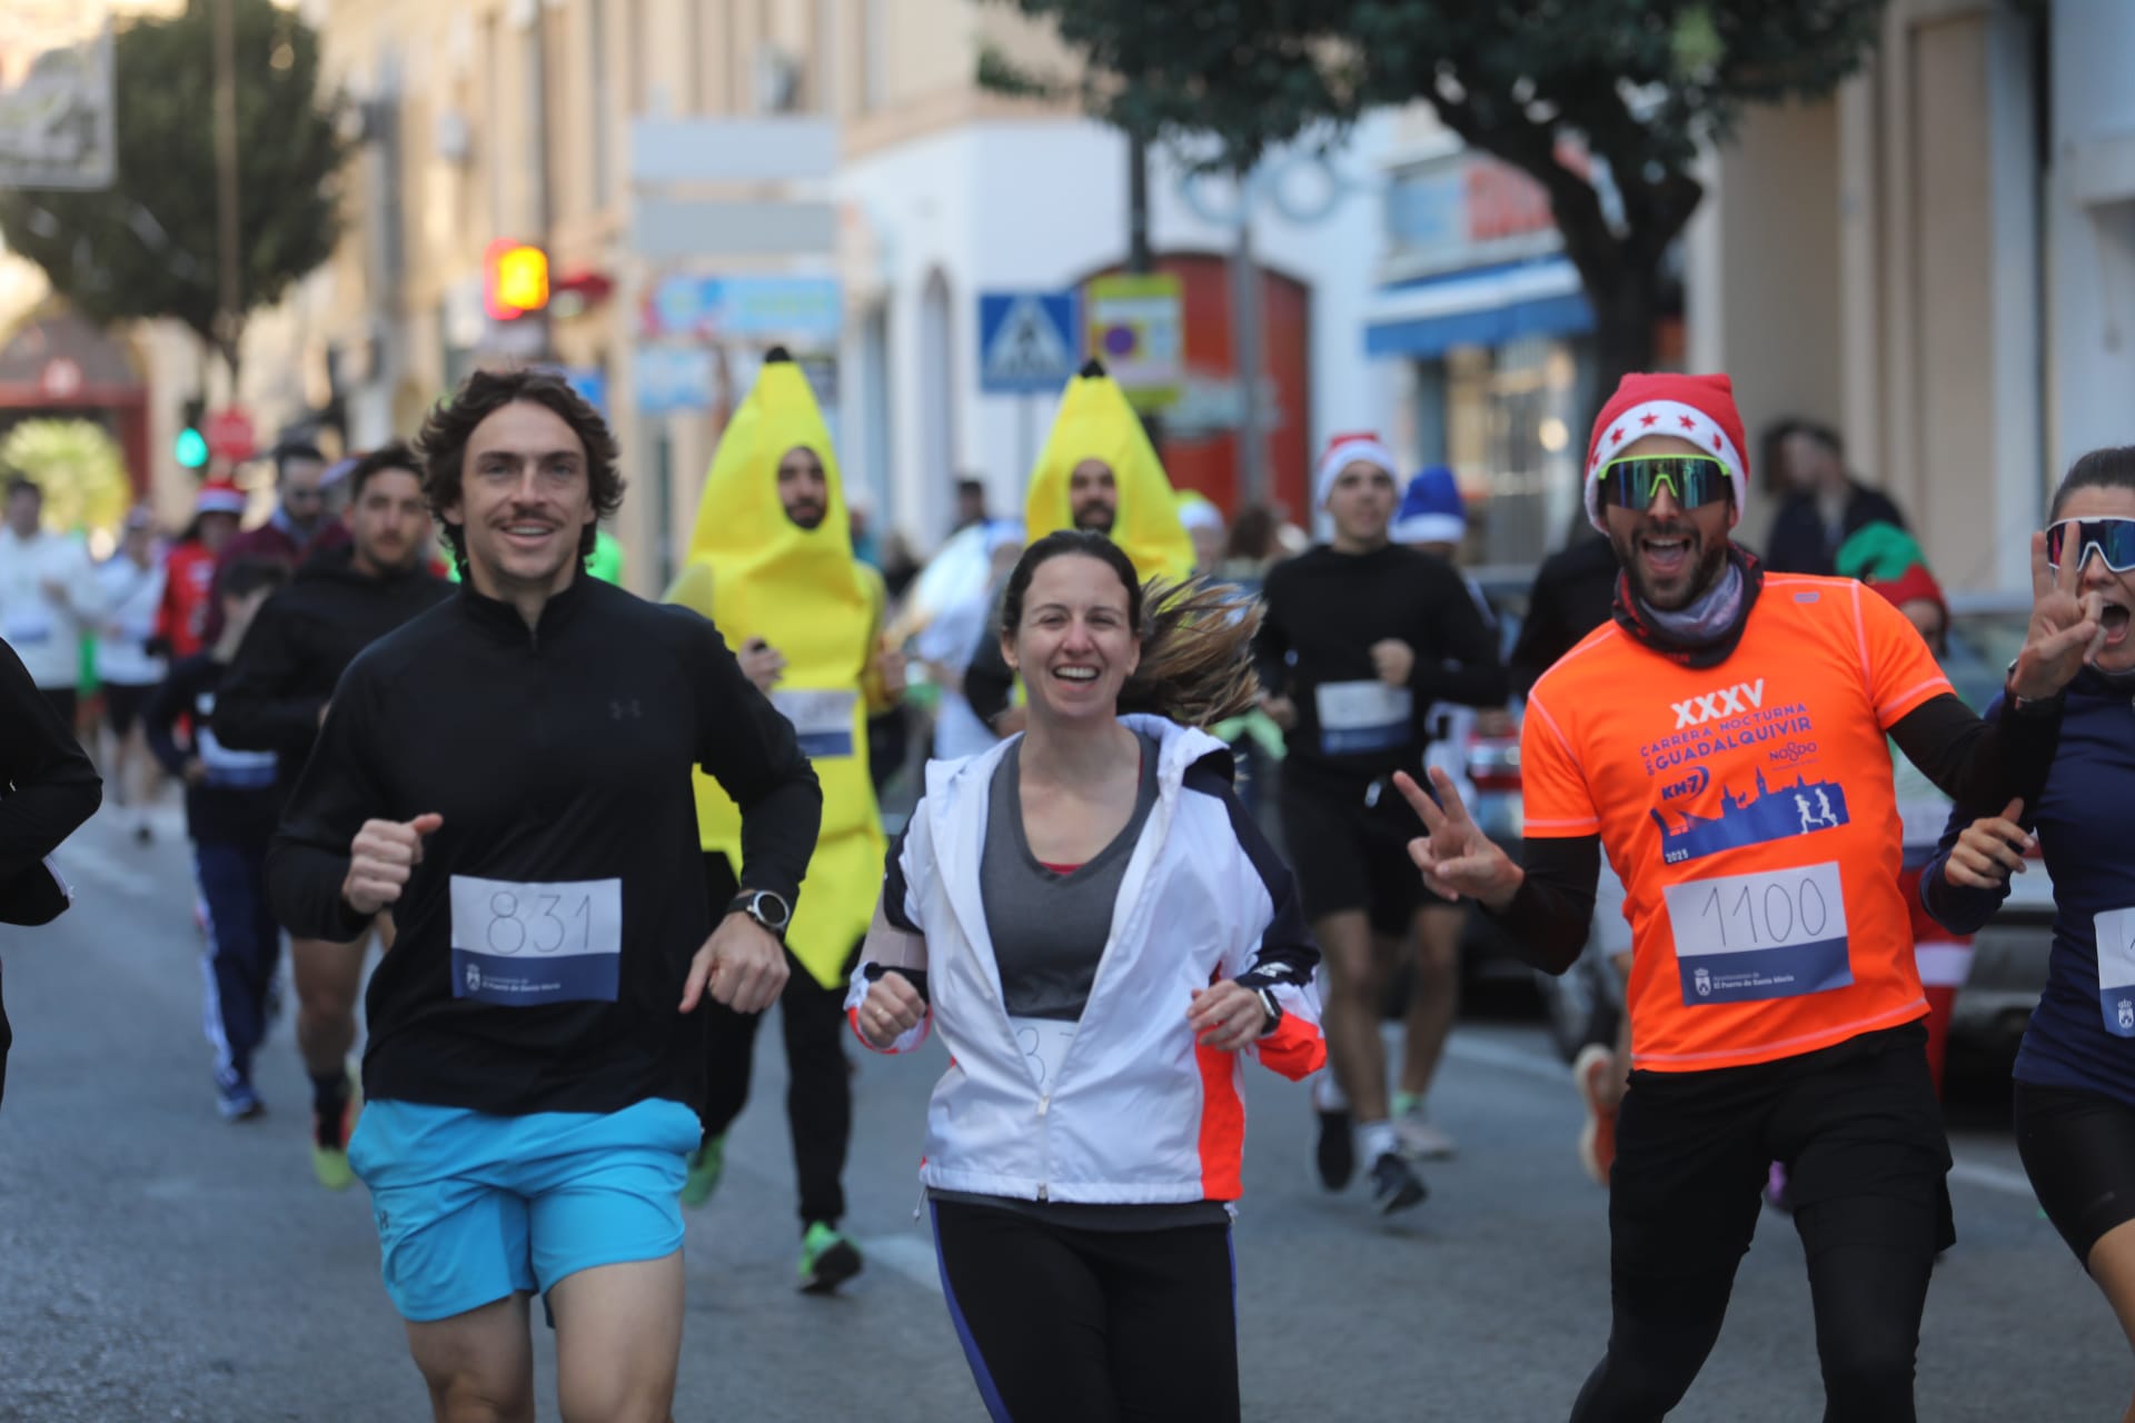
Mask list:
[[1781,1062],[1631,1073],[1610,1173],[1608,1355],[1573,1423],[1652,1423],[1682,1402],[1774,1161],[1808,1257],[1825,1423],[1911,1423],[1928,1274],[1954,1240],[1919,1024]]

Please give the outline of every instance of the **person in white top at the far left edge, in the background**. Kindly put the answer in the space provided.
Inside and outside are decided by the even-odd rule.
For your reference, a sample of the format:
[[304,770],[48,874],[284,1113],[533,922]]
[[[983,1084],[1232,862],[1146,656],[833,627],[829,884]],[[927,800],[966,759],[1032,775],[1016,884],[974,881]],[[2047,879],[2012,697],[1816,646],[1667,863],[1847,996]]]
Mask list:
[[45,491],[21,474],[9,478],[6,529],[0,529],[0,638],[21,657],[60,721],[75,730],[81,629],[96,617],[100,591],[81,540],[47,533],[43,518]]

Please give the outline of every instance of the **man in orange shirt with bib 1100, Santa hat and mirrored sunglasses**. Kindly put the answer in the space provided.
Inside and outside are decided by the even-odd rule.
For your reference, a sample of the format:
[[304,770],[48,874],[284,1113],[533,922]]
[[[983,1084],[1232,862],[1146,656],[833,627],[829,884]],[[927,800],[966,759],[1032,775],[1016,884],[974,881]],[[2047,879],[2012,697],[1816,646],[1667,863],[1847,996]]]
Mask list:
[[1627,375],[1603,405],[1586,510],[1625,572],[1612,621],[1529,695],[1524,868],[1448,787],[1441,811],[1396,779],[1430,832],[1409,847],[1424,883],[1473,896],[1550,973],[1586,937],[1603,847],[1625,881],[1614,1318],[1576,1423],[1659,1419],[1689,1389],[1772,1161],[1808,1257],[1823,1417],[1915,1417],[1928,1272],[1954,1235],[1885,734],[1966,804],[2030,794],[2099,636],[2035,540],[2009,710],[1979,721],[1885,599],[1766,576],[1729,540],[1742,448],[1725,375]]

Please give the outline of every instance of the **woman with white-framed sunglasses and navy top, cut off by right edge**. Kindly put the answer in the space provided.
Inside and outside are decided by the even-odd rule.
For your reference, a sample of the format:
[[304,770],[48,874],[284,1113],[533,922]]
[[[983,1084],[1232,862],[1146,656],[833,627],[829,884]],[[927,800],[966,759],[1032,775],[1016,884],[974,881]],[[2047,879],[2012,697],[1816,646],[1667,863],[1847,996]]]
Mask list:
[[2024,853],[2045,860],[2054,949],[2015,1058],[2015,1139],[2039,1205],[2135,1344],[2135,446],[2075,461],[2033,538],[2045,576],[2077,593],[2099,634],[2062,693],[2041,794],[1998,811],[1956,806],[1921,900],[1973,932]]

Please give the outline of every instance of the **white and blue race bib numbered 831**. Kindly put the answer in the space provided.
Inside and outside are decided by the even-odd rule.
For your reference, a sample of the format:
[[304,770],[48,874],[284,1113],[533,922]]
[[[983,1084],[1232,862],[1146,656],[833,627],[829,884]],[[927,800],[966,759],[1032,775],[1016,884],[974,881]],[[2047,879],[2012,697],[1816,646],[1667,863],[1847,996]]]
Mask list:
[[615,1003],[623,881],[512,883],[453,875],[453,996],[532,1007]]

